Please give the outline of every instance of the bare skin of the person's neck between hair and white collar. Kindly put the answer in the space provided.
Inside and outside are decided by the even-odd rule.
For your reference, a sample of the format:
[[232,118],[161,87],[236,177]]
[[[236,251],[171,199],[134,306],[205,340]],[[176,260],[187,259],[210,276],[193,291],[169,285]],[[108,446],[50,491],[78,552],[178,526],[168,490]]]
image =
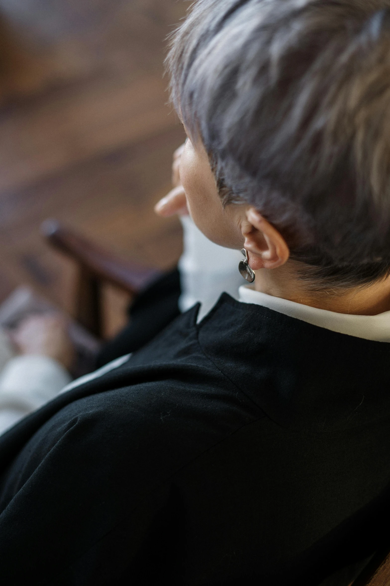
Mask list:
[[282,267],[260,269],[255,273],[256,291],[302,305],[351,315],[377,315],[390,310],[390,277],[361,287],[312,291],[310,285],[298,277],[296,261],[289,260]]

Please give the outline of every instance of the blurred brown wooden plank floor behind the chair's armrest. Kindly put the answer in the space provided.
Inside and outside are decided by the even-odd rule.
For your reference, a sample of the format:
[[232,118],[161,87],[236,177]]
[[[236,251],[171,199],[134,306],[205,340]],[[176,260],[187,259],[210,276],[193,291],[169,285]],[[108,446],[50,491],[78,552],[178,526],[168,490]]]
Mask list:
[[74,267],[42,240],[47,217],[151,266],[177,260],[180,225],[153,205],[183,140],[163,60],[185,8],[0,0],[0,301],[29,284],[73,311]]

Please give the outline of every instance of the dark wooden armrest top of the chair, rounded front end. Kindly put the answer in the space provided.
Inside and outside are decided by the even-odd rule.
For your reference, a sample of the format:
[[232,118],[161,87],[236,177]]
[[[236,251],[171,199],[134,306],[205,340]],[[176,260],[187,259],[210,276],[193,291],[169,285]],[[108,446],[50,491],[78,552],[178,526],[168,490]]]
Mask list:
[[100,280],[108,281],[131,294],[139,293],[162,274],[154,268],[122,260],[62,226],[57,220],[45,220],[41,230],[50,244],[74,258]]

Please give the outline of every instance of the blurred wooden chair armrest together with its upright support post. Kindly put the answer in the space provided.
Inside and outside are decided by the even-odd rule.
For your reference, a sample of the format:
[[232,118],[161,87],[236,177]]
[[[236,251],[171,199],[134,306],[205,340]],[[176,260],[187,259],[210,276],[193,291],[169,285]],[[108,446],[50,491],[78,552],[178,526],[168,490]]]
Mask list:
[[41,231],[51,246],[77,263],[75,319],[99,338],[103,335],[103,285],[111,283],[134,296],[162,274],[155,268],[119,258],[57,220],[45,220]]

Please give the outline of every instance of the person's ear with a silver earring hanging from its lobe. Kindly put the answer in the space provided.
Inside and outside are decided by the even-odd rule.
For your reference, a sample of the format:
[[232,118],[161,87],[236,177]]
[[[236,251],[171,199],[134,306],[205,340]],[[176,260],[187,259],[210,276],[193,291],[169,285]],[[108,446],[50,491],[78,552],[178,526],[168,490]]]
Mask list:
[[288,261],[290,251],[283,236],[254,207],[247,210],[241,231],[249,265],[254,271],[281,267]]

